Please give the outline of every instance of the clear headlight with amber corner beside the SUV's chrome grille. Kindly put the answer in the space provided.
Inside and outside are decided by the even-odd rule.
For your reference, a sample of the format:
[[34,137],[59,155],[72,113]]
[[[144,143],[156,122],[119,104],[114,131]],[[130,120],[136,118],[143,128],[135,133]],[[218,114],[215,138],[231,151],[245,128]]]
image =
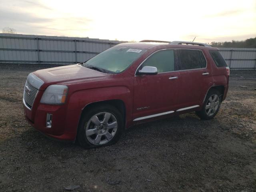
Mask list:
[[68,94],[68,86],[66,85],[50,85],[44,91],[41,103],[44,104],[63,104]]

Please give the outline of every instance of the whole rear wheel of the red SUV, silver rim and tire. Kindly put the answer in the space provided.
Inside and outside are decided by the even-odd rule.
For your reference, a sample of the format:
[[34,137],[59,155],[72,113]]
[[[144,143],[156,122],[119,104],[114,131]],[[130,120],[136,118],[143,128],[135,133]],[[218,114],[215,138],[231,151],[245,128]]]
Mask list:
[[218,90],[210,90],[206,95],[204,105],[201,111],[196,111],[196,114],[201,119],[211,119],[218,113],[221,104],[221,95]]

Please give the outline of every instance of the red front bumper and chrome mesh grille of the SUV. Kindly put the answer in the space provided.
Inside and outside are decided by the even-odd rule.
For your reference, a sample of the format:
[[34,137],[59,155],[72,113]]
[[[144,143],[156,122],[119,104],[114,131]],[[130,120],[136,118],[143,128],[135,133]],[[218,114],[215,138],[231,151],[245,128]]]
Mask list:
[[[26,120],[36,130],[46,136],[58,140],[74,141],[79,122],[79,116],[73,110],[68,110],[68,102],[63,105],[47,105],[40,103],[46,88],[44,81],[30,73],[24,87],[23,108]],[[52,114],[52,126],[46,127],[46,116]]]

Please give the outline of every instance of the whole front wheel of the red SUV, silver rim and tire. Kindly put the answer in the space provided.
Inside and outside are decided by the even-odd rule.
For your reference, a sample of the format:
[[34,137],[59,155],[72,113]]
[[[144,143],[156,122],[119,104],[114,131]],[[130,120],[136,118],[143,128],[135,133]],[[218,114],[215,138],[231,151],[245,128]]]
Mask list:
[[116,143],[124,127],[122,114],[113,106],[90,108],[78,128],[78,142],[84,148],[95,148]]

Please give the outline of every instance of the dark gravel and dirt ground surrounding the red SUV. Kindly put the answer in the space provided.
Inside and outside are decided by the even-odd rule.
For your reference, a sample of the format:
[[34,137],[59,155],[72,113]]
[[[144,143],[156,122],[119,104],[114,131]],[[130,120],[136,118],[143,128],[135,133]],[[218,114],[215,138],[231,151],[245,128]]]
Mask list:
[[24,118],[26,76],[48,67],[0,64],[1,192],[256,191],[256,71],[231,71],[212,120],[158,120],[126,130],[113,146],[84,150],[46,138]]

